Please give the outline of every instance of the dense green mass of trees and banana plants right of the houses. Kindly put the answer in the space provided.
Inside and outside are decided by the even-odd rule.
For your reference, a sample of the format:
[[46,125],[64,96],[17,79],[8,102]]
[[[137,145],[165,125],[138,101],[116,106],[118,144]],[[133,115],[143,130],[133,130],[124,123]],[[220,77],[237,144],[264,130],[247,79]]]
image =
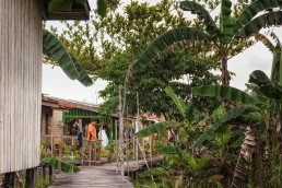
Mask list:
[[[281,45],[274,34],[273,45],[258,32],[282,24],[282,1],[132,1],[124,14],[118,3],[108,1],[105,17],[64,23],[57,35],[87,73],[109,82],[101,110],[117,110],[126,80],[129,114],[136,114],[139,93],[141,110],[167,119],[136,136],[165,129],[178,134],[173,146],[158,148],[164,165],[141,174],[148,181],[142,184],[154,176],[151,186],[160,187],[281,187]],[[220,14],[212,19],[216,7]],[[184,11],[197,19],[185,19]],[[227,60],[257,40],[273,52],[270,79],[256,70],[247,92],[228,86]],[[216,69],[223,85],[212,73]]]

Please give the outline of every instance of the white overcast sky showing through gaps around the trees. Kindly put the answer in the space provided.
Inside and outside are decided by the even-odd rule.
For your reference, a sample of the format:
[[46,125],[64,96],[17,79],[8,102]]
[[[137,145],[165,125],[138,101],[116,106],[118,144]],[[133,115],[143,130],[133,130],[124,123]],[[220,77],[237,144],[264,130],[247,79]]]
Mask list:
[[[96,0],[89,0],[92,8],[95,8]],[[142,0],[145,1],[145,0]],[[129,0],[124,0],[128,3]],[[157,1],[150,1],[157,2]],[[58,22],[49,22],[56,24]],[[282,28],[275,28],[275,34],[282,39]],[[236,73],[236,77],[231,81],[231,85],[240,90],[245,90],[245,83],[248,82],[248,77],[254,70],[262,70],[267,74],[270,73],[272,63],[271,52],[261,44],[258,43],[230,59],[228,70]],[[48,64],[43,66],[43,93],[51,96],[57,96],[66,99],[75,99],[91,103],[101,103],[97,92],[104,90],[107,82],[97,80],[94,85],[85,87],[78,81],[70,80],[60,68]]]

